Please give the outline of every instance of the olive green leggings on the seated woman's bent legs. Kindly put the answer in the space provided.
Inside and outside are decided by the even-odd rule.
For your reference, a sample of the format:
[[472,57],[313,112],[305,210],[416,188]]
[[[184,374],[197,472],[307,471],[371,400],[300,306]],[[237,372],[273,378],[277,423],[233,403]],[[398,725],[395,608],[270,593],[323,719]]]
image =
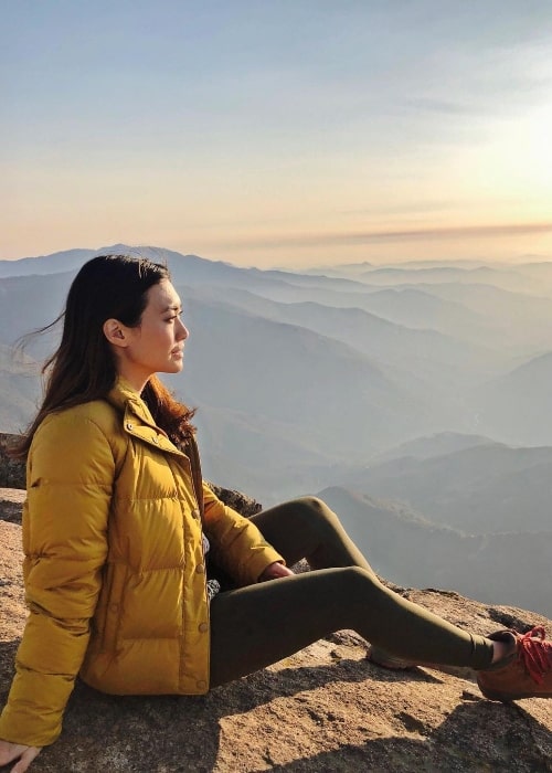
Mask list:
[[252,519],[291,565],[314,571],[219,593],[211,602],[211,686],[252,674],[341,628],[417,663],[490,665],[492,644],[378,580],[337,516],[305,497]]

